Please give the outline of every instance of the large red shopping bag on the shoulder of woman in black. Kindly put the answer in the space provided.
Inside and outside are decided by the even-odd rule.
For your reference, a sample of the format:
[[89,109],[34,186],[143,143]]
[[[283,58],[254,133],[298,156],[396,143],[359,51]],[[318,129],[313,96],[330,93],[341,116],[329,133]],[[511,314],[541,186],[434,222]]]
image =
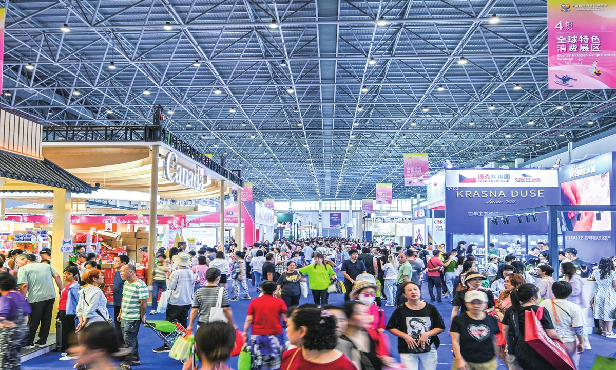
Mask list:
[[534,313],[532,310],[524,312],[524,340],[533,350],[537,351],[554,368],[559,370],[575,370],[569,354],[561,342],[551,339],[541,326],[543,307]]

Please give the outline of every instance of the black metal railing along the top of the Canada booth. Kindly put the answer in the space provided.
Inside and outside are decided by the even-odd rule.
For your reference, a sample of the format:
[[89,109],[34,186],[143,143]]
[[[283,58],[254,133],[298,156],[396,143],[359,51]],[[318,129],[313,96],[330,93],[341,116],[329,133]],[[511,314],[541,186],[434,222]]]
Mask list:
[[201,163],[233,183],[244,186],[239,176],[214,162],[195,147],[178,138],[162,126],[43,126],[45,142],[164,142],[178,152]]

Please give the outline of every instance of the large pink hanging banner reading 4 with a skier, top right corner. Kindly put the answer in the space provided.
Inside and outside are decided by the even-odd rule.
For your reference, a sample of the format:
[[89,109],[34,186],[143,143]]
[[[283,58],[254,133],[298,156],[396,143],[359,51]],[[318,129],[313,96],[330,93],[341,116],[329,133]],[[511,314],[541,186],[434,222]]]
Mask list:
[[548,0],[550,89],[616,88],[615,7]]

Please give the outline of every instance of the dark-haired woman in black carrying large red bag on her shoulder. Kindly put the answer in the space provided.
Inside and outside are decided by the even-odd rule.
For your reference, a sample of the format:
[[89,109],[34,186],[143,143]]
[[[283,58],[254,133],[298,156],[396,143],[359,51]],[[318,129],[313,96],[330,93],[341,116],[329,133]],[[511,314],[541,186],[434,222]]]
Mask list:
[[[539,289],[534,284],[522,284],[509,294],[511,307],[503,316],[503,334],[507,339],[507,362],[519,363],[524,370],[556,370],[537,351],[524,341],[524,312],[537,312],[537,303],[541,300]],[[548,311],[543,310],[543,317],[539,320],[548,337],[562,342],[560,335],[554,330]],[[519,356],[516,354],[520,354]]]

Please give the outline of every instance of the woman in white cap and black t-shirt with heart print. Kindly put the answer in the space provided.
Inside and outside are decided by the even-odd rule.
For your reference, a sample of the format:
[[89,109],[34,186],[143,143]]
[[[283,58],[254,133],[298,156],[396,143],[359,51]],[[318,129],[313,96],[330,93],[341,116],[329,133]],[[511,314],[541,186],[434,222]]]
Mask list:
[[449,334],[452,336],[453,369],[496,370],[496,334],[498,321],[484,311],[488,295],[469,290],[464,295],[466,311],[455,316]]

